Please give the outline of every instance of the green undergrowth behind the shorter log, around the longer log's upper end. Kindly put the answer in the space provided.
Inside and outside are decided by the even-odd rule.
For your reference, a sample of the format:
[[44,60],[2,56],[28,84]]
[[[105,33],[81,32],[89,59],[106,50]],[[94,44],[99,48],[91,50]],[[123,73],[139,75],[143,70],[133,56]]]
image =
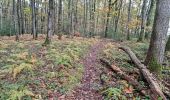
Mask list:
[[136,56],[143,62],[147,53],[149,44],[147,42],[136,42],[135,40],[125,41],[120,44],[108,43],[105,45],[105,49],[102,52],[102,57],[109,60],[111,63],[115,63],[119,67],[133,68],[133,64],[130,61],[128,55],[122,50],[118,49],[118,46],[128,46],[136,54]]

